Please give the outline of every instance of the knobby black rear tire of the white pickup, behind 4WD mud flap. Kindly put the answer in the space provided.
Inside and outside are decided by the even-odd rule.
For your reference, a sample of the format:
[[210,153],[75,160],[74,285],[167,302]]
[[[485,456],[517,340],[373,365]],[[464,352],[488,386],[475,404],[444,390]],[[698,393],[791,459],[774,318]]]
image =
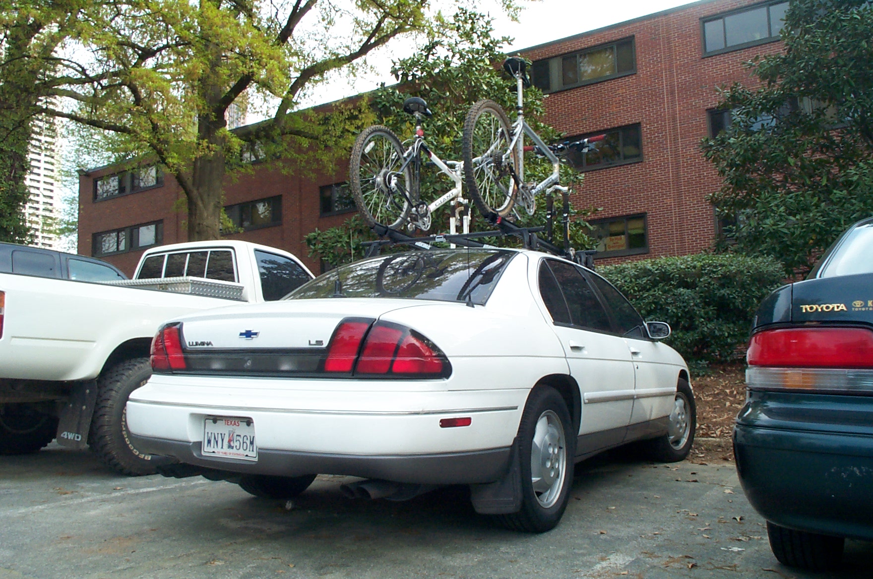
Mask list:
[[88,445],[108,467],[128,476],[155,474],[152,455],[134,448],[127,435],[127,398],[152,375],[148,358],[125,360],[100,373]]

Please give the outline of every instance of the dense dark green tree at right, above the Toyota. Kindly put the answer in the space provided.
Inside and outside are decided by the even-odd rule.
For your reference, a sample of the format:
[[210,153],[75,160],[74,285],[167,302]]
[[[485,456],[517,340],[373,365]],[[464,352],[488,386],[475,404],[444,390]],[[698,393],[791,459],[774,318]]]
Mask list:
[[711,195],[736,249],[807,271],[857,219],[873,214],[873,4],[794,0],[784,53],[758,58],[762,85],[734,85],[732,124],[705,140],[724,185]]

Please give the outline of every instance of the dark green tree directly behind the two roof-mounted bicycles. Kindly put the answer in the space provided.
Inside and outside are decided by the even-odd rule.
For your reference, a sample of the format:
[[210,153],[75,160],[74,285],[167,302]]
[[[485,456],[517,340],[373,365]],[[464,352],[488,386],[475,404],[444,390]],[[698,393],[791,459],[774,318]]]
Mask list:
[[[423,121],[425,139],[430,149],[443,160],[461,160],[461,140],[464,116],[480,99],[491,99],[503,106],[510,119],[514,118],[516,106],[515,81],[500,68],[506,58],[501,50],[510,40],[508,37],[495,37],[491,18],[474,10],[457,10],[452,17],[440,17],[437,30],[431,32],[427,42],[419,51],[395,61],[392,74],[397,85],[383,86],[369,95],[380,125],[388,126],[401,140],[411,139],[415,133],[416,121],[403,112],[403,101],[409,97],[421,97],[427,101],[433,116]],[[536,87],[525,90],[525,119],[546,142],[558,140],[560,133],[543,121],[545,109],[543,95]],[[525,158],[526,179],[540,181],[550,174],[552,166],[532,153]],[[577,190],[581,187],[582,175],[569,167],[561,167],[561,182],[571,184]],[[451,188],[449,178],[436,167],[423,167],[422,199],[432,201]],[[471,231],[487,231],[492,226],[481,219],[469,194],[465,197],[471,206]],[[448,231],[451,204],[446,204],[433,215],[430,233]],[[586,249],[594,246],[588,237],[588,224],[584,218],[593,213],[593,208],[571,208],[570,239],[574,248]],[[518,208],[517,224],[538,227],[546,223],[545,197],[537,199],[534,215],[527,215]],[[560,241],[560,196],[555,199],[555,236]],[[458,227],[460,231],[460,227]],[[318,231],[306,238],[310,255],[319,255],[332,265],[360,259],[362,253],[347,252],[347,240],[372,239],[369,229],[362,221],[347,221],[342,226]],[[345,245],[334,246],[331,242]],[[512,239],[487,239],[494,245],[517,245]],[[340,262],[333,259],[341,256]]]

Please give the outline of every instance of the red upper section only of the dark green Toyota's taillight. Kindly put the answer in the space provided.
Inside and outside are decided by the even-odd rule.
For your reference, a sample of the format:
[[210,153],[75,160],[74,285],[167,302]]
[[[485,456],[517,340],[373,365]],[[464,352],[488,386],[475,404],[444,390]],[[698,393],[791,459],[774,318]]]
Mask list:
[[755,334],[746,360],[753,366],[873,368],[873,331],[787,328]]

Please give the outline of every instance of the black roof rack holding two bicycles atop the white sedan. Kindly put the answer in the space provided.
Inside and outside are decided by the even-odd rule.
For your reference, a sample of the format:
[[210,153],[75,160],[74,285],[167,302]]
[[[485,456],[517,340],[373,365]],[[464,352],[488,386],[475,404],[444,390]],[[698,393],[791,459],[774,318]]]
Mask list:
[[489,245],[485,242],[479,242],[478,239],[483,237],[505,237],[507,235],[512,235],[518,237],[521,242],[524,244],[525,249],[533,249],[536,251],[543,251],[545,253],[550,253],[552,255],[558,255],[560,257],[565,257],[571,261],[579,263],[580,265],[588,268],[595,269],[594,263],[594,255],[596,253],[595,249],[581,249],[576,250],[570,247],[568,241],[568,219],[567,214],[568,211],[565,210],[564,215],[564,247],[560,248],[557,245],[554,245],[553,242],[548,242],[545,239],[541,239],[537,234],[546,232],[546,236],[551,239],[551,210],[548,210],[546,213],[546,226],[534,227],[534,228],[519,228],[514,223],[510,221],[506,221],[502,217],[497,216],[492,222],[494,225],[498,227],[498,229],[492,231],[477,231],[473,233],[462,233],[462,234],[442,234],[442,235],[430,235],[428,237],[412,237],[410,235],[406,235],[401,231],[397,231],[396,229],[388,228],[384,225],[373,225],[371,229],[378,235],[381,239],[376,240],[375,242],[363,242],[362,246],[367,248],[366,257],[374,257],[375,255],[379,255],[383,246],[394,246],[394,245],[409,245],[410,249],[437,249],[433,246],[434,243],[453,243],[455,245],[460,245],[462,247],[467,248],[488,248],[488,249],[497,249],[496,246]]

